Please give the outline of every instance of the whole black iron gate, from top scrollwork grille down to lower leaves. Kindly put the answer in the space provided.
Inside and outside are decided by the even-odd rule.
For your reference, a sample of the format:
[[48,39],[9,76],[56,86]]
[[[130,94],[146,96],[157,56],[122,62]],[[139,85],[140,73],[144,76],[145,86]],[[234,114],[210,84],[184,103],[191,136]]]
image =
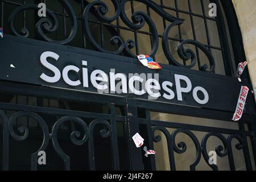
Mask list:
[[[195,6],[190,0],[185,2],[188,5],[187,10],[181,9],[180,1],[176,0],[166,1],[173,2],[174,5],[168,5],[162,0],[115,0],[111,1],[114,6],[113,11],[115,11],[111,18],[105,16],[108,13],[108,6],[103,1],[63,0],[55,1],[55,3],[48,1],[49,9],[53,9],[58,3],[58,7],[60,7],[59,10],[47,10],[49,19],[39,18],[36,12],[38,10],[37,4],[45,3],[44,0],[35,0],[32,5],[28,5],[21,0],[19,2],[0,0],[0,2],[0,24],[1,27],[5,27],[5,38],[1,39],[0,42],[0,71],[9,74],[0,75],[0,155],[2,156],[0,164],[3,170],[155,170],[159,169],[160,164],[159,160],[156,160],[156,156],[160,152],[163,152],[164,155],[167,154],[164,158],[168,160],[166,162],[168,164],[167,168],[176,170],[180,169],[177,164],[183,163],[177,156],[185,154],[191,148],[195,150],[195,158],[188,166],[184,164],[183,168],[196,170],[200,166],[199,163],[204,161],[210,168],[217,170],[218,165],[210,165],[208,162],[208,144],[211,143],[209,141],[212,138],[221,141],[221,145],[218,144],[215,151],[219,158],[228,160],[227,166],[229,166],[229,169],[237,169],[237,156],[234,155],[237,154],[235,152],[237,150],[242,151],[239,157],[243,159],[247,170],[255,167],[256,115],[253,94],[250,94],[250,98],[247,99],[246,112],[243,114],[241,121],[238,122],[237,129],[214,126],[214,123],[217,123],[214,121],[212,121],[213,126],[207,125],[209,123],[208,119],[222,121],[227,125],[230,124],[233,108],[228,106],[236,104],[237,88],[241,86],[241,83],[237,83],[234,67],[240,61],[245,60],[245,56],[241,51],[241,36],[239,36],[239,27],[232,10],[232,1],[222,2],[222,6],[226,10],[225,15],[229,18],[228,27],[225,25],[222,11],[218,11],[217,18],[208,17],[204,9],[207,6],[204,0],[198,1],[199,5],[196,5],[200,7],[201,14],[193,11]],[[218,9],[221,9],[220,1],[209,2],[216,3]],[[146,6],[146,11],[135,10],[135,3],[142,3]],[[130,6],[131,17],[126,15],[126,4]],[[35,10],[35,12],[29,14],[29,10]],[[18,16],[20,14],[22,16]],[[160,17],[163,26],[155,25],[155,15]],[[180,16],[189,17],[193,34],[191,39],[193,40],[183,37],[182,26],[186,22]],[[26,20],[27,17],[31,18],[30,21]],[[205,27],[207,41],[204,43],[198,42],[199,36],[195,30],[197,18],[203,21]],[[59,20],[59,23],[57,20]],[[213,32],[208,27],[210,22],[217,24],[218,36],[216,36],[216,39],[220,39],[220,45],[214,46],[210,41],[209,34]],[[145,24],[148,24],[148,31],[143,29]],[[10,28],[7,28],[8,26]],[[170,36],[169,33],[171,29],[174,30],[175,26],[177,35]],[[18,28],[20,28],[20,31],[18,31]],[[228,28],[230,28],[232,43],[228,40],[226,31]],[[57,29],[59,31],[56,31]],[[68,30],[70,30],[70,35],[68,35]],[[60,34],[61,31],[63,31],[63,35]],[[97,34],[97,31],[99,34]],[[127,32],[130,32],[133,37],[123,40],[122,36],[129,34]],[[24,63],[28,60],[28,57],[39,59],[39,53],[42,53],[41,49],[47,49],[47,51],[62,52],[65,63],[69,61],[67,60],[68,56],[79,55],[77,57],[81,61],[80,58],[89,55],[94,56],[94,60],[91,61],[91,63],[94,63],[92,67],[96,67],[97,64],[104,64],[104,61],[108,59],[108,66],[117,65],[117,68],[121,71],[126,71],[126,67],[129,67],[131,72],[141,72],[144,67],[142,65],[138,66],[138,61],[134,59],[135,55],[141,53],[138,41],[139,35],[149,37],[148,45],[152,49],[150,56],[154,60],[156,59],[156,52],[160,49],[159,40],[162,39],[162,51],[167,61],[167,64],[163,64],[162,78],[168,77],[171,80],[174,73],[187,74],[193,77],[193,80],[196,80],[196,84],[200,85],[204,82],[203,84],[209,87],[212,96],[215,92],[221,93],[221,89],[223,89],[221,86],[228,85],[226,89],[234,91],[233,93],[225,92],[222,96],[224,99],[229,96],[228,101],[222,98],[213,98],[208,106],[200,107],[196,105],[195,107],[193,105],[191,107],[188,106],[189,102],[192,101],[190,97],[187,97],[188,99],[184,103],[168,101],[172,103],[167,104],[165,103],[166,100],[156,102],[148,101],[145,98],[134,98],[133,96],[119,97],[79,92],[79,89],[71,90],[74,88],[67,90],[49,86],[36,86],[45,84],[36,75],[39,71],[34,72],[35,75],[30,75],[31,72],[27,72],[27,69],[24,68],[26,67]],[[58,40],[53,39],[53,37]],[[44,42],[39,40],[44,40]],[[110,42],[115,44],[112,45]],[[173,57],[173,52],[170,51],[174,49],[170,47],[175,43],[177,43],[176,51],[179,55],[177,58],[181,59],[180,63]],[[185,44],[194,46],[195,51],[185,48]],[[235,60],[232,60],[230,44],[233,44]],[[90,52],[86,49],[93,49],[94,51]],[[133,49],[135,49],[134,52],[132,52]],[[13,50],[15,50],[16,55],[12,52]],[[24,51],[27,52],[24,53]],[[206,56],[205,58],[201,57],[202,51]],[[215,51],[221,55],[220,61],[216,57],[213,59],[212,52]],[[19,59],[22,59],[22,61],[19,61]],[[110,63],[110,60],[112,63]],[[214,74],[220,74],[215,70],[214,60],[223,64],[224,71],[221,74],[226,76],[221,77]],[[12,76],[16,74],[16,70],[10,68],[13,61],[16,61],[16,64],[22,67],[22,69],[19,69],[19,77],[10,76],[10,73]],[[72,60],[71,62],[77,64],[76,61]],[[204,64],[205,61],[209,61],[209,64]],[[28,64],[30,63],[32,64],[32,59]],[[126,65],[121,67],[122,64]],[[236,64],[236,66],[233,64]],[[35,65],[33,64],[32,67],[35,67]],[[193,71],[191,68],[197,71]],[[145,72],[151,71],[146,70]],[[24,78],[23,73],[27,73],[28,76]],[[170,77],[170,75],[172,76]],[[38,80],[30,79],[32,76],[35,76]],[[249,86],[249,82],[249,76],[245,72],[242,76],[242,83]],[[214,85],[218,85],[218,87],[215,88]],[[66,88],[65,86],[63,88]],[[92,92],[92,90],[89,91]],[[191,94],[188,96],[191,96]],[[218,102],[216,102],[217,99]],[[223,105],[221,108],[217,108],[216,103],[220,102]],[[184,105],[178,105],[180,103]],[[228,103],[228,105],[225,105],[225,103]],[[166,121],[152,117],[152,112],[205,118],[206,120],[203,125],[196,122],[178,122],[175,119],[174,121],[168,119]],[[195,134],[197,132],[202,133],[203,138],[197,136]],[[150,155],[146,158],[143,148],[135,146],[132,140],[135,133],[142,135],[145,146],[156,151],[155,156]],[[186,135],[192,141],[192,147],[177,137],[180,134]],[[235,147],[234,142],[236,142]],[[156,146],[157,143],[164,143],[166,149],[163,150],[164,147],[159,148]],[[46,165],[38,164],[39,151],[46,152]]]

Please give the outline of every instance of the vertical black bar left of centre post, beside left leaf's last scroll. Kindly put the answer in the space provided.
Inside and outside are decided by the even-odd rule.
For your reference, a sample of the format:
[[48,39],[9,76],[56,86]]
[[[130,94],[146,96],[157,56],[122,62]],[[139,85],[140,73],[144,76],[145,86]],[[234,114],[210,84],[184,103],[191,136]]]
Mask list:
[[111,148],[112,148],[112,157],[113,157],[113,168],[114,170],[120,170],[119,166],[119,154],[118,154],[118,140],[117,140],[117,123],[115,121],[115,105],[110,104],[110,114],[111,114]]

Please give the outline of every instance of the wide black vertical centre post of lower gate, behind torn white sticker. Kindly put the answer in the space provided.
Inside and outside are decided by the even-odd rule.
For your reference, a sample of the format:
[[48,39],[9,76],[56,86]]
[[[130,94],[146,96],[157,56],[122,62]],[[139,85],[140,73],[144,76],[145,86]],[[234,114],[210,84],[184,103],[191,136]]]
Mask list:
[[127,136],[129,140],[129,152],[130,152],[130,163],[131,170],[139,171],[143,170],[142,163],[142,151],[141,148],[137,148],[133,142],[132,137],[139,133],[139,123],[138,123],[138,111],[136,106],[136,100],[126,98],[126,122],[128,127],[129,135]]

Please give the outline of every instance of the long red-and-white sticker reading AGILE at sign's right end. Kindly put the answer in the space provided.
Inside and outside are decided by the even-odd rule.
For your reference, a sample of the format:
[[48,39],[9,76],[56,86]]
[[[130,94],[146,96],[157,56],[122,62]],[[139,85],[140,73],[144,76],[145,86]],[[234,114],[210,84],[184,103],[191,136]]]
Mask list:
[[243,109],[245,109],[245,102],[248,93],[249,88],[247,88],[247,86],[242,86],[237,102],[236,113],[234,113],[232,121],[239,121],[242,118]]

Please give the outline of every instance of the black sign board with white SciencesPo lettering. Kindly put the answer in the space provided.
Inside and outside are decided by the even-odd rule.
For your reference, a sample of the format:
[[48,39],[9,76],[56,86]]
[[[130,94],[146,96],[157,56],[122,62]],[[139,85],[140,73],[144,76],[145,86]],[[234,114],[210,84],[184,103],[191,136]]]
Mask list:
[[[233,77],[193,71],[187,68],[179,68],[171,65],[162,65],[163,69],[156,71],[144,67],[137,59],[130,57],[110,55],[96,51],[41,42],[38,40],[16,38],[9,35],[6,35],[0,40],[0,47],[1,80],[99,93],[92,84],[91,79],[93,78],[91,76],[94,71],[100,70],[108,76],[109,93],[105,94],[148,100],[151,98],[149,97],[147,90],[145,90],[145,93],[142,95],[129,93],[130,75],[135,73],[138,73],[138,75],[141,73],[148,75],[151,73],[153,78],[156,78],[154,74],[158,73],[159,79],[157,80],[160,84],[160,97],[157,99],[155,98],[154,101],[231,112],[236,110],[241,86],[248,86],[247,82],[239,82],[237,78]],[[46,52],[48,52],[48,54]],[[49,53],[50,55],[51,53],[57,55],[58,58],[53,59],[47,57],[46,60],[48,65],[53,65],[60,72],[59,79],[53,79],[52,82],[47,82],[42,78],[42,74],[48,77],[56,76],[56,74],[48,69],[46,65],[42,64],[41,56],[47,56]],[[72,70],[73,68],[79,69],[77,70],[77,73]],[[127,93],[110,92],[110,72],[113,69],[115,69],[115,74],[122,73],[127,77]],[[80,84],[79,82],[76,82],[76,86],[67,84],[67,81],[65,81],[64,78],[65,72],[71,81],[80,81]],[[87,82],[85,81],[86,76],[88,76],[86,79]],[[188,82],[183,78],[189,78],[191,88],[189,88]],[[117,82],[115,82],[115,84]],[[164,82],[165,84],[163,84]],[[86,83],[88,84],[87,86]],[[170,83],[172,85],[170,85]],[[187,91],[185,88],[187,88]],[[164,95],[166,97],[163,97]],[[253,97],[253,93],[250,92],[246,101],[247,114],[255,114],[253,107],[250,107],[254,105]]]

